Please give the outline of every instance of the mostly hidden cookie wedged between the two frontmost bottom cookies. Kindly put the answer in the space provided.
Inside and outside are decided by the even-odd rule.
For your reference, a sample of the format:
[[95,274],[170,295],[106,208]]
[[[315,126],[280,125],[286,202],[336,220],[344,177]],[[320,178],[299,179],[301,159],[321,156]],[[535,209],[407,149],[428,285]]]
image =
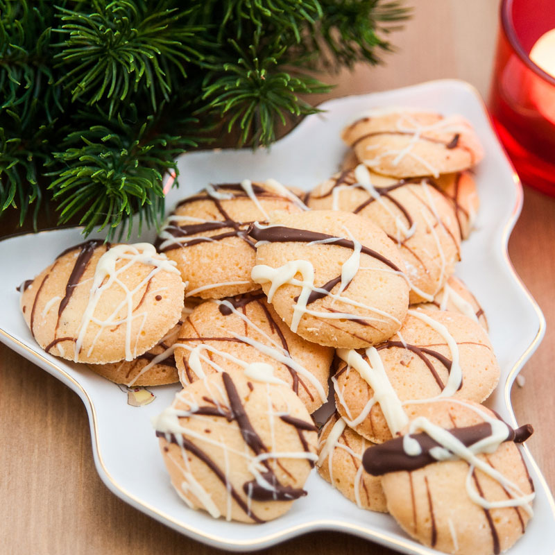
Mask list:
[[359,509],[386,513],[381,479],[362,468],[362,455],[373,445],[354,432],[337,413],[323,425],[318,438],[318,473]]

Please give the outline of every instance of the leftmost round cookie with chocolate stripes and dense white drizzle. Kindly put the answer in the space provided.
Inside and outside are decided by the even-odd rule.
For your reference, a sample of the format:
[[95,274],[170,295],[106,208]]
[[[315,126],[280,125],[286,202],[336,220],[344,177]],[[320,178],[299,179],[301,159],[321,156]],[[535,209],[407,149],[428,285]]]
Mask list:
[[184,284],[153,245],[87,241],[26,282],[21,306],[51,355],[105,364],[133,360],[178,322]]

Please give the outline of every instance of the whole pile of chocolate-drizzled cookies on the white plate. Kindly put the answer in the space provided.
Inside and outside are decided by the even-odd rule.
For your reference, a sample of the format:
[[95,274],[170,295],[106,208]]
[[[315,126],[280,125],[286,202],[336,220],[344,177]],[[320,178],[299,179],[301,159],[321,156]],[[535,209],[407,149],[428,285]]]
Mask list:
[[481,146],[459,116],[398,108],[368,112],[343,140],[341,171],[307,194],[208,185],[155,246],[65,251],[23,285],[24,317],[47,352],[114,382],[182,384],[155,428],[191,508],[277,518],[316,465],[425,545],[497,554],[531,516],[515,445],[531,427],[480,404],[499,366],[453,275]]

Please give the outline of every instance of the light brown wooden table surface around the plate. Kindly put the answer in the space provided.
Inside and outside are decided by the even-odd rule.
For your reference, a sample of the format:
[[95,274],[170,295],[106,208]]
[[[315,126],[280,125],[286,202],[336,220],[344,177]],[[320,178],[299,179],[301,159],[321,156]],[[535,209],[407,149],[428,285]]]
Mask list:
[[[387,56],[384,67],[341,74],[334,96],[443,77],[466,79],[487,95],[497,0],[411,3],[415,6],[413,19],[404,31],[393,35],[398,53]],[[547,334],[522,370],[524,386],[515,386],[512,398],[518,421],[531,422],[536,428],[529,447],[553,490],[555,411],[550,407],[555,380],[550,374],[555,355],[555,199],[531,189],[524,197],[509,253],[544,311]],[[0,220],[0,234],[13,232],[12,227],[10,217]],[[96,474],[87,413],[78,396],[3,345],[0,388],[1,554],[220,553],[181,536],[112,495]],[[341,533],[311,533],[265,552],[393,553]]]

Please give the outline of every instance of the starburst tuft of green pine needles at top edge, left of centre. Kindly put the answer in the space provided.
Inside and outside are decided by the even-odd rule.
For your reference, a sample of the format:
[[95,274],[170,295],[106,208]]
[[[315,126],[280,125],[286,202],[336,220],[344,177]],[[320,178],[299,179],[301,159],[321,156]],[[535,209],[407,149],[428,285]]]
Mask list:
[[151,10],[148,1],[95,0],[91,13],[60,8],[63,24],[56,32],[65,40],[54,45],[61,49],[54,58],[71,101],[108,100],[110,117],[143,86],[153,110],[162,99],[169,101],[191,57],[203,59],[195,41],[202,29],[182,24],[187,11],[169,5],[160,1]]

